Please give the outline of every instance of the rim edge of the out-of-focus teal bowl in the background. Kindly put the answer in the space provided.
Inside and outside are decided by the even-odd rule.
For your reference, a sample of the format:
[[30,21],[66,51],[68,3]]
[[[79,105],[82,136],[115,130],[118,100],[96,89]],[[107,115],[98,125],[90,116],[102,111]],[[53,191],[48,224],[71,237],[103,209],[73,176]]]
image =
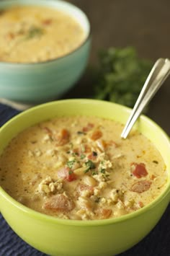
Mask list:
[[[15,2],[15,0],[11,0],[11,1],[13,1],[13,2]],[[55,2],[54,0],[48,0],[48,1],[43,1],[43,2],[45,2],[46,3],[46,5],[47,6],[49,6],[49,2]],[[44,65],[44,64],[48,64],[48,63],[53,63],[53,62],[55,62],[55,61],[59,61],[59,60],[61,60],[61,59],[64,59],[64,58],[67,58],[68,56],[71,56],[72,54],[74,54],[74,53],[76,53],[76,51],[77,50],[79,50],[81,47],[83,47],[90,39],[91,39],[91,24],[90,24],[90,21],[89,21],[89,17],[87,16],[87,14],[84,12],[84,11],[82,11],[78,6],[76,6],[75,4],[71,4],[71,3],[69,3],[69,2],[67,2],[67,1],[64,1],[64,0],[57,0],[57,1],[60,1],[60,2],[64,2],[65,4],[68,4],[68,6],[73,6],[73,8],[76,8],[76,9],[78,9],[79,11],[81,11],[83,14],[84,14],[84,16],[86,17],[86,20],[87,20],[87,22],[89,23],[89,32],[88,32],[88,34],[86,35],[86,38],[85,38],[85,40],[78,46],[78,47],[76,47],[74,50],[72,50],[71,52],[69,52],[69,53],[66,53],[64,56],[61,56],[61,57],[58,57],[58,58],[53,58],[53,59],[50,59],[50,60],[48,60],[48,61],[40,61],[40,62],[33,62],[33,63],[31,63],[31,62],[27,62],[27,63],[17,63],[17,62],[14,62],[14,63],[11,63],[11,62],[3,62],[3,61],[0,61],[0,65],[5,65],[5,66],[31,66],[31,65],[40,65],[40,64],[42,64],[42,65]],[[56,1],[56,2],[57,2]],[[2,2],[6,2],[6,0],[1,0],[0,1],[0,9],[1,9],[1,3]],[[16,2],[16,4],[17,4],[17,2]],[[22,6],[22,4],[21,3],[19,3],[19,5],[21,5]],[[27,4],[27,5],[29,5],[29,4]],[[43,5],[42,5],[43,6]],[[5,8],[4,8],[5,9]],[[56,8],[57,9],[57,8]]]

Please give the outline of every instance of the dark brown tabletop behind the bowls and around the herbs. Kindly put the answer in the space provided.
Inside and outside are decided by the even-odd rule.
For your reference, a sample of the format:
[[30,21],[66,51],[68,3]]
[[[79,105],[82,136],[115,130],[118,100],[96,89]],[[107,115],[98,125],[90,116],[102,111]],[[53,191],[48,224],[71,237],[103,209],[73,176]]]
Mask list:
[[[141,58],[156,61],[170,57],[169,0],[70,0],[91,22],[92,48],[89,66],[97,65],[100,49],[134,46]],[[88,69],[65,97],[89,97]],[[148,117],[170,135],[170,77],[150,104]]]

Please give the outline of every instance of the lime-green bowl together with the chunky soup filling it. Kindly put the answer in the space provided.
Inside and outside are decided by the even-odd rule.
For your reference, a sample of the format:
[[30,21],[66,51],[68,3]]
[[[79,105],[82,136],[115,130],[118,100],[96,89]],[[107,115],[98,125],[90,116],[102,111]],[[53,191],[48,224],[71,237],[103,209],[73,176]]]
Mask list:
[[[130,111],[131,110],[127,107],[110,102],[97,100],[61,100],[27,110],[17,115],[17,117],[10,120],[1,128],[1,159],[3,159],[5,155],[7,156],[6,152],[11,150],[14,145],[17,145],[14,148],[17,150],[17,153],[15,157],[14,154],[13,156],[9,156],[6,165],[4,164],[4,167],[1,166],[1,169],[6,168],[6,170],[9,167],[11,172],[9,173],[9,170],[7,170],[8,174],[6,174],[6,176],[3,175],[3,180],[15,177],[13,184],[16,186],[10,190],[12,180],[10,180],[10,182],[1,181],[0,209],[6,221],[24,241],[48,255],[115,255],[128,250],[128,248],[143,239],[143,237],[153,229],[169,204],[170,143],[164,131],[162,131],[156,123],[144,116],[139,118],[127,140],[122,141],[120,134],[123,125],[125,125],[130,115]],[[76,118],[78,118],[79,121]],[[55,126],[55,124],[57,125]],[[117,126],[117,129],[113,124]],[[109,136],[104,136],[105,128],[107,133],[107,129],[109,129],[112,139],[110,139]],[[114,129],[112,130],[112,128]],[[65,130],[63,131],[63,129]],[[26,138],[30,138],[30,136],[28,136],[30,131],[32,138],[31,140],[27,140]],[[42,149],[40,149],[39,146],[35,146],[37,144],[36,134],[40,135],[40,141],[43,143]],[[19,140],[21,144],[17,141],[19,136],[22,138]],[[138,143],[139,141],[135,136],[137,136],[138,139],[142,138],[142,142],[140,141],[140,143]],[[87,145],[86,141],[89,141]],[[120,152],[120,159],[119,157],[118,159],[112,159],[113,156],[118,156],[117,150],[125,152],[121,143],[122,145],[124,143],[127,144],[125,147],[131,147],[130,150],[127,151],[128,153],[124,154],[129,154],[131,157],[135,154],[136,158],[130,159],[129,165],[128,163],[122,164],[123,162],[121,162],[120,159],[125,156],[122,156]],[[148,152],[145,154],[143,146],[146,143],[149,146],[146,146],[145,150],[148,149]],[[29,149],[30,153],[27,151],[28,145],[32,147]],[[89,145],[92,146],[92,150],[88,149]],[[137,146],[137,149],[134,145]],[[55,146],[56,152],[53,151],[53,146]],[[65,146],[69,147],[66,152],[63,151],[62,148]],[[94,146],[96,146],[96,148],[94,148]],[[82,149],[83,151],[85,149],[85,151],[79,151]],[[102,152],[103,149],[104,152]],[[114,151],[114,154],[112,151]],[[152,154],[153,151],[154,153]],[[64,154],[61,155],[61,153]],[[65,153],[67,155],[65,155]],[[20,170],[22,169],[22,172],[18,173],[21,177],[18,177],[18,181],[20,182],[17,183],[16,172],[14,171],[14,174],[13,169],[17,167],[18,164],[22,164],[20,160],[14,160],[19,154],[24,157],[22,161],[25,161],[23,162],[23,169],[25,170],[23,171],[21,165],[18,166]],[[55,154],[58,154],[61,159],[56,159]],[[48,167],[43,167],[43,155],[45,156],[45,163],[47,165],[52,163],[48,165]],[[68,159],[64,158],[66,156],[68,156]],[[98,157],[102,158],[103,156],[107,157],[107,159],[101,159],[101,161],[99,160],[99,162],[97,162]],[[70,159],[70,157],[73,157],[73,159]],[[110,159],[108,159],[108,157],[110,157]],[[13,167],[10,167],[12,158],[15,164]],[[29,159],[32,159],[32,163],[37,161],[37,176],[35,180],[25,182],[27,178],[30,179],[29,175],[27,175]],[[75,161],[75,159],[79,161]],[[56,164],[55,167],[53,166],[53,161]],[[42,165],[38,165],[38,162]],[[61,164],[61,167],[58,164]],[[79,167],[79,164],[82,164],[82,167]],[[127,168],[125,168],[125,176],[123,177],[124,166]],[[156,187],[156,190],[154,190],[153,186],[153,184],[156,185],[156,177],[153,176],[158,177],[158,171],[157,173],[153,173],[151,166],[154,166],[155,169],[158,166],[163,176],[163,183],[160,183],[158,185],[159,188]],[[66,167],[69,168],[67,173],[65,172]],[[46,175],[43,177],[46,168],[48,169],[48,175],[51,180],[45,180],[47,178]],[[65,168],[63,172],[61,172],[61,168]],[[83,169],[80,170],[80,168]],[[34,169],[35,167],[32,167],[32,173]],[[55,177],[52,176],[52,172],[53,174],[55,173]],[[63,184],[61,187],[58,180],[58,172],[61,183]],[[38,177],[38,174],[42,175],[42,177]],[[107,184],[108,187],[112,187],[112,190],[118,190],[118,183],[120,182],[123,186],[124,193],[122,187],[120,187],[121,191],[118,191],[118,196],[116,195],[117,199],[116,197],[108,198],[108,194],[114,195],[114,193],[110,194],[108,187],[102,187],[102,190],[99,191],[99,195],[97,195],[96,198],[98,203],[94,202],[94,211],[89,209],[97,218],[89,218],[89,216],[93,214],[87,217],[85,216],[85,218],[82,218],[84,214],[76,214],[76,216],[79,217],[75,218],[71,211],[73,211],[73,209],[75,212],[84,210],[87,206],[85,200],[83,201],[79,197],[87,199],[88,203],[89,200],[92,202],[94,198],[91,198],[91,196],[95,195],[91,195],[91,193],[94,193],[94,190],[99,188],[100,181],[97,180],[99,177],[106,179],[101,181],[101,186]],[[160,179],[158,178],[158,180]],[[142,181],[148,182],[144,184]],[[141,182],[140,185],[138,182]],[[55,214],[49,215],[48,212],[39,212],[39,209],[34,207],[32,207],[32,209],[25,203],[27,200],[24,202],[16,198],[14,194],[12,195],[12,193],[17,193],[17,187],[19,187],[21,183],[24,186],[26,186],[26,183],[32,184],[32,187],[37,190],[36,196],[40,198],[40,200],[35,200],[40,202],[45,199],[44,202],[42,201],[42,203],[44,203],[43,208],[46,207],[47,211],[55,211]],[[136,183],[138,184],[136,185]],[[75,184],[77,195],[77,198],[76,195],[75,198],[81,201],[81,209],[75,208],[77,204],[71,193],[71,184]],[[163,184],[163,187],[161,187],[161,184]],[[6,187],[8,185],[10,185],[10,187]],[[81,187],[84,186],[85,189],[81,190]],[[91,188],[93,186],[94,189]],[[151,190],[151,187],[153,190]],[[140,198],[140,200],[135,202],[135,204],[138,203],[138,208],[134,208],[134,211],[127,213],[128,208],[125,208],[125,206],[127,206],[130,200],[128,197],[125,197],[128,196],[126,193],[128,193],[129,188],[131,193],[129,195],[133,194],[144,198],[147,193],[149,196],[153,191],[153,194],[157,193],[157,195],[155,198],[152,198],[152,200],[148,200],[148,203],[145,203],[145,200]],[[28,184],[26,189],[28,191],[30,190]],[[115,193],[117,193],[116,190]],[[75,190],[72,191],[74,193]],[[58,196],[61,195],[61,205],[58,207]],[[51,200],[51,196],[52,198],[55,197],[55,199]],[[148,196],[146,196],[146,200]],[[24,198],[21,199],[24,200]],[[108,202],[107,200],[109,199],[114,199],[114,202]],[[125,203],[126,199],[128,200],[127,203]],[[49,200],[51,201],[49,202]],[[69,202],[66,200],[69,200]],[[72,204],[71,200],[73,200]],[[91,205],[91,202],[89,205]],[[111,205],[109,205],[109,203],[111,203]],[[97,208],[99,204],[100,207]],[[118,212],[119,208],[117,206],[120,204],[124,207],[122,208],[123,211],[122,213],[119,211],[119,214],[115,214],[114,216],[114,212]],[[50,209],[48,206],[50,206]],[[137,206],[137,204],[135,206]],[[62,207],[66,208],[67,211],[63,210]],[[127,207],[130,208],[131,206]],[[106,211],[106,209],[110,211]],[[112,214],[109,214],[111,211]],[[61,213],[66,216],[60,216]],[[103,218],[103,216],[105,218]]]

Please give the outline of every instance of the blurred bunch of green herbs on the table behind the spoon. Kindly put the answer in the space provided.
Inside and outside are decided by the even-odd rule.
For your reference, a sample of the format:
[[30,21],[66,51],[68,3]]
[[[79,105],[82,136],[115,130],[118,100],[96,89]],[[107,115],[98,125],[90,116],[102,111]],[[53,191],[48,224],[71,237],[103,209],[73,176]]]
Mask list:
[[109,48],[99,54],[94,98],[133,107],[153,63],[138,58],[135,48]]

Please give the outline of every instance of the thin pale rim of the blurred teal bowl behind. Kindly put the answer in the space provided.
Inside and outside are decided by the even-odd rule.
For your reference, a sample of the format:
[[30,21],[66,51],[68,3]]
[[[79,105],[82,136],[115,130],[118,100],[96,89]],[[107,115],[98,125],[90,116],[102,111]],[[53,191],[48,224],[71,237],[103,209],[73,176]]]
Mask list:
[[[89,31],[87,32],[87,35],[86,35],[86,38],[82,41],[82,43],[77,46],[75,49],[71,50],[71,52],[68,52],[66,53],[65,55],[61,56],[61,57],[58,57],[58,58],[52,58],[50,60],[47,60],[47,61],[40,61],[40,62],[27,62],[27,63],[17,63],[17,62],[8,62],[8,61],[0,61],[0,65],[5,65],[5,66],[37,66],[38,64],[40,65],[44,65],[44,64],[48,64],[48,63],[53,63],[55,61],[60,61],[60,60],[63,60],[64,58],[67,58],[68,56],[71,56],[72,54],[76,53],[76,51],[80,50],[81,47],[83,47],[84,45],[86,45],[86,43],[91,39],[91,24],[90,24],[90,21],[89,21],[89,17],[87,16],[87,14],[81,9],[79,8],[78,6],[76,6],[75,4],[71,4],[69,3],[68,1],[64,1],[64,0],[48,0],[48,1],[45,1],[45,0],[41,0],[42,3],[45,3],[45,5],[41,5],[41,4],[38,4],[38,6],[48,6],[50,7],[49,3],[55,3],[57,4],[57,2],[59,3],[63,3],[63,4],[67,4],[68,6],[71,6],[73,7],[74,9],[76,9],[77,11],[79,11],[81,14],[84,15],[84,17],[86,18],[86,23],[89,25]],[[0,10],[1,10],[1,3],[6,3],[5,0],[1,0],[0,1]],[[14,3],[19,5],[19,6],[22,6],[22,3],[21,2],[18,2],[16,0],[9,0],[9,2],[11,3]],[[7,1],[8,3],[8,1]],[[33,6],[34,4],[24,4],[24,6]],[[36,4],[35,4],[36,6]],[[10,8],[10,7],[9,7]],[[6,7],[4,8],[6,9]],[[57,9],[57,6],[56,6],[56,9]],[[71,14],[69,14],[71,16]]]

